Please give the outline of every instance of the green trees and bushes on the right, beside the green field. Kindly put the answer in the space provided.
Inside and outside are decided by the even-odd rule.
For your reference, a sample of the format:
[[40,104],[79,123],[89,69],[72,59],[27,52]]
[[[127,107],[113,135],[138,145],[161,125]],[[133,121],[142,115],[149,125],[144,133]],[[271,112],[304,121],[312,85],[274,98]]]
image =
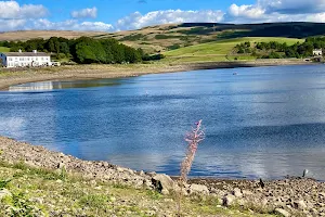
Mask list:
[[325,37],[309,37],[304,42],[288,46],[286,42],[244,42],[235,47],[238,54],[251,54],[261,59],[309,58],[314,49],[325,49]]

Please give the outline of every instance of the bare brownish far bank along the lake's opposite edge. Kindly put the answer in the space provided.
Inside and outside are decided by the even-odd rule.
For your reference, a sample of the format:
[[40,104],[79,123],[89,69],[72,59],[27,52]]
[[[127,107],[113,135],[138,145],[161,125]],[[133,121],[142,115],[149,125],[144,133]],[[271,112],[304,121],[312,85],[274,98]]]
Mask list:
[[204,62],[188,64],[129,64],[129,65],[66,65],[44,68],[2,68],[0,69],[0,90],[10,86],[46,80],[83,80],[101,78],[134,77],[147,74],[190,72],[213,68],[258,67],[277,65],[315,64],[303,60],[257,60],[235,62]]

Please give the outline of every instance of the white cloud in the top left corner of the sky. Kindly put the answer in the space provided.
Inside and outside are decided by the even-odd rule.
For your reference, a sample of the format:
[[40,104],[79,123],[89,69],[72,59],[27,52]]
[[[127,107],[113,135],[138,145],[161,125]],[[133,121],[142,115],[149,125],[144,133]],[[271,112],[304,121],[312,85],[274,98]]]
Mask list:
[[23,4],[16,1],[0,1],[0,18],[38,18],[44,17],[48,10],[41,4]]

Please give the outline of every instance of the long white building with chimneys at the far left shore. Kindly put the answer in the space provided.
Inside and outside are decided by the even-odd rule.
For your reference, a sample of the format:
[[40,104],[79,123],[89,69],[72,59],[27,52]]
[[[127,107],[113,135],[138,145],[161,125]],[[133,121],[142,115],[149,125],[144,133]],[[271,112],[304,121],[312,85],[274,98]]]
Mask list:
[[50,66],[51,55],[43,52],[3,52],[0,53],[0,62],[5,67],[25,67],[25,66]]

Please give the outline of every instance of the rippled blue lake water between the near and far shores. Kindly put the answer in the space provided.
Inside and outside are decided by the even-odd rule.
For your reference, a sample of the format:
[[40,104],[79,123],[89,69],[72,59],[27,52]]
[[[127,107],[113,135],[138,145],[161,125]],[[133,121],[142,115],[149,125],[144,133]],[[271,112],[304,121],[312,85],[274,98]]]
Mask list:
[[178,175],[203,119],[191,176],[325,180],[325,65],[44,81],[0,92],[0,135],[136,170]]

